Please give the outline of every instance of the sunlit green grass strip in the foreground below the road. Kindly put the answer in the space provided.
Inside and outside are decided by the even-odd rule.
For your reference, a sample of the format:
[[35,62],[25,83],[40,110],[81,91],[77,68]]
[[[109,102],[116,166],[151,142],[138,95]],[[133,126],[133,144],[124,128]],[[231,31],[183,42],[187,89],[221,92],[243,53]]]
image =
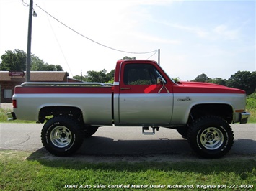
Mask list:
[[[46,157],[45,157],[46,155]],[[86,156],[82,156],[86,157]],[[172,156],[170,156],[172,157]],[[97,157],[95,157],[97,161]],[[0,190],[167,190],[168,185],[256,187],[256,157],[183,162],[89,163],[76,157],[47,157],[42,151],[0,151]],[[83,188],[79,188],[80,186]],[[118,186],[119,188],[118,188]],[[153,189],[153,186],[155,189]],[[89,188],[89,189],[88,189]],[[185,189],[189,190],[189,189]],[[241,190],[239,188],[232,190]]]

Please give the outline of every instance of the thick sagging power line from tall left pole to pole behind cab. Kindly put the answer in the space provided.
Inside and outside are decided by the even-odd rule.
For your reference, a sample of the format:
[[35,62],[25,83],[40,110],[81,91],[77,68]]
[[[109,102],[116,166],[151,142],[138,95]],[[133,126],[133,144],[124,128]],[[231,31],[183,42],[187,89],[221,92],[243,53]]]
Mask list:
[[68,25],[66,25],[66,24],[64,24],[63,22],[61,22],[60,20],[56,19],[56,17],[53,17],[51,14],[49,14],[47,11],[45,11],[43,8],[41,8],[41,7],[38,6],[37,4],[36,4],[36,6],[37,6],[38,8],[40,8],[42,11],[44,11],[46,14],[48,14],[50,17],[52,17],[53,19],[55,19],[57,22],[63,24],[63,26],[67,27],[67,28],[70,29],[71,31],[76,32],[76,34],[79,34],[81,37],[84,37],[84,38],[86,38],[86,39],[89,39],[90,41],[96,43],[97,45],[101,45],[102,47],[107,47],[107,48],[109,48],[109,49],[111,49],[111,50],[115,50],[115,51],[118,51],[118,52],[125,52],[125,53],[128,53],[128,54],[141,54],[141,55],[142,55],[142,54],[149,54],[149,53],[153,53],[153,52],[157,52],[157,51],[158,51],[158,50],[153,50],[153,51],[149,51],[149,52],[128,52],[128,51],[124,51],[124,50],[118,50],[118,49],[116,49],[116,48],[109,47],[109,46],[107,46],[107,45],[103,45],[103,44],[101,44],[100,42],[97,42],[97,41],[95,41],[95,40],[93,40],[93,39],[90,39],[89,37],[86,37],[86,36],[84,36],[83,34],[81,34],[81,33],[77,32],[76,30],[72,29],[72,28],[69,27]]

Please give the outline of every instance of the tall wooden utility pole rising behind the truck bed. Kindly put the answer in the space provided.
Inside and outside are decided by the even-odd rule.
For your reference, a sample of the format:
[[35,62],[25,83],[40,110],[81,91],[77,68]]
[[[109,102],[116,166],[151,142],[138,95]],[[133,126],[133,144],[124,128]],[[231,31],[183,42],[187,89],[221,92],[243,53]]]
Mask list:
[[30,82],[32,11],[33,11],[33,0],[30,0],[30,13],[28,16],[28,32],[27,32],[26,82]]

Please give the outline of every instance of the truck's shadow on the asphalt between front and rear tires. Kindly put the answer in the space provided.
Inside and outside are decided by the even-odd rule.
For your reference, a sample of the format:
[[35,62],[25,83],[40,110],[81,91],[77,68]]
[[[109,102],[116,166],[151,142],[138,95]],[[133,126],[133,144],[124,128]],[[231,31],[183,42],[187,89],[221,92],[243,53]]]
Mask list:
[[134,155],[134,154],[182,154],[192,152],[186,139],[170,140],[114,140],[102,136],[84,139],[77,154]]

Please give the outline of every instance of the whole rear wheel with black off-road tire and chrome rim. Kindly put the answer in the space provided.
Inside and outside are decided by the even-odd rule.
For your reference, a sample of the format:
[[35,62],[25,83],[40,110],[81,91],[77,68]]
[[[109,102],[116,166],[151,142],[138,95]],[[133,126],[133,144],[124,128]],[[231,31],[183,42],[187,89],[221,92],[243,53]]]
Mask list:
[[76,152],[84,140],[84,130],[71,116],[56,116],[45,123],[41,131],[45,149],[56,156],[70,156]]

